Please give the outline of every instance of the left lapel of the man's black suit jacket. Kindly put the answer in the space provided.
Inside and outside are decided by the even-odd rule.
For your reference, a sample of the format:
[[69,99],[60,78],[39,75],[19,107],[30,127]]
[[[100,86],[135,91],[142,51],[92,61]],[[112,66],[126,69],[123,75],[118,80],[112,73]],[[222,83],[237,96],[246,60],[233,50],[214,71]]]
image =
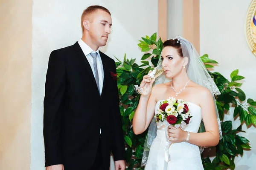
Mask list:
[[93,75],[93,71],[91,69],[90,63],[88,62],[87,58],[84,55],[84,52],[82,51],[81,47],[79,46],[79,43],[76,42],[74,45],[74,50],[77,52],[77,57],[79,58],[79,64],[81,65],[82,69],[85,69],[86,72],[89,75],[89,78],[93,81],[93,84],[95,85],[95,88],[97,89],[97,92],[99,92],[96,80]]

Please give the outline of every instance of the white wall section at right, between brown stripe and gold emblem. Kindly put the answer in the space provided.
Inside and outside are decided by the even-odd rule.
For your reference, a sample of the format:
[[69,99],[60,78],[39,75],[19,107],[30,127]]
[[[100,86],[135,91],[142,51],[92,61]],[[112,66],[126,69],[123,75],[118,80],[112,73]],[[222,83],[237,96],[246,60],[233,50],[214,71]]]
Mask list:
[[[255,77],[256,57],[250,52],[245,37],[245,18],[251,0],[201,0],[200,1],[200,53],[218,61],[214,71],[230,78],[230,73],[239,69],[244,76],[241,89],[247,98],[256,100]],[[233,113],[233,109],[232,112]],[[224,121],[233,120],[233,114],[226,115]],[[240,120],[233,123],[233,129]],[[256,128],[247,129],[239,135],[246,137],[252,147],[244,151],[243,157],[235,159],[236,170],[255,170],[256,167]]]

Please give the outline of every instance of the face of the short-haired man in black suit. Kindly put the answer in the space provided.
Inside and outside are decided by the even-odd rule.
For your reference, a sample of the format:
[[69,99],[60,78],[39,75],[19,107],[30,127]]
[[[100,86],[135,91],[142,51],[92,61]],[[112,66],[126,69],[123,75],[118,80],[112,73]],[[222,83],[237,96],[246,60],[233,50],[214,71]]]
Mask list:
[[98,10],[92,14],[88,32],[93,44],[97,46],[106,45],[111,25],[112,19],[108,12]]

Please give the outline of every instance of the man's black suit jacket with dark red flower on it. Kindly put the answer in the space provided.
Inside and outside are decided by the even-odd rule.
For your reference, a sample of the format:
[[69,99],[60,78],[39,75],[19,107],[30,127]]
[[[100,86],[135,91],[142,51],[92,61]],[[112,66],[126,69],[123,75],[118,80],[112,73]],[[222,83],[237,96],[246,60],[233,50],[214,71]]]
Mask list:
[[109,167],[111,150],[115,161],[126,159],[118,89],[111,77],[111,72],[116,72],[115,62],[102,52],[100,56],[102,95],[78,42],[51,53],[44,98],[45,166],[89,169],[96,156],[100,128],[104,166]]

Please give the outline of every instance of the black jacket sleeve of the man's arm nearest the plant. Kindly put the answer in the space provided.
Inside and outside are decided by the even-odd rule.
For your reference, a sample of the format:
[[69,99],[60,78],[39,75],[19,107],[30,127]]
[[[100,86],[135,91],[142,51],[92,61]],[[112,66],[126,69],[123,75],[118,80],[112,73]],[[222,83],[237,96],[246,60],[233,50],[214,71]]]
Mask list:
[[[113,62],[112,70],[116,72],[116,65]],[[123,138],[123,130],[122,130],[122,119],[119,109],[119,95],[116,81],[113,81],[113,117],[111,118],[112,122],[112,153],[114,156],[114,160],[126,160],[125,153],[125,144]]]

